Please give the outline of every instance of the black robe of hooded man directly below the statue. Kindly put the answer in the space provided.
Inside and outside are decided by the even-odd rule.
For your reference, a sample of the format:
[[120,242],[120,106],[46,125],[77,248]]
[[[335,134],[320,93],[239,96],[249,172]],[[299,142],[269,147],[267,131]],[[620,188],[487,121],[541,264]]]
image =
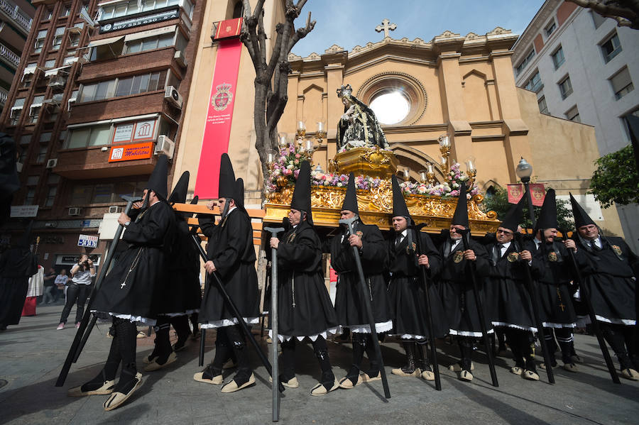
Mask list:
[[359,273],[355,263],[353,247],[349,244],[347,230],[324,243],[324,252],[331,254],[331,265],[337,272],[337,293],[335,311],[340,325],[354,332],[371,332],[366,314],[364,297],[371,302],[375,329],[377,332],[390,331],[392,328],[391,305],[386,292],[383,277],[388,253],[386,242],[375,225],[366,225],[356,221],[354,231],[361,237],[362,248],[359,253],[364,270],[366,293],[361,292]]

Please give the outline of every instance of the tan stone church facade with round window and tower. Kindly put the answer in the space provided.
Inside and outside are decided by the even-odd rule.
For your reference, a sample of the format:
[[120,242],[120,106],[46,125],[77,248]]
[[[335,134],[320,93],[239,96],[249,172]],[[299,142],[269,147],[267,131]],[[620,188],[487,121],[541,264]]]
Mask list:
[[[232,2],[207,5],[207,22],[230,18]],[[273,31],[282,11],[267,9],[267,33]],[[216,19],[217,18],[217,19]],[[202,28],[190,104],[185,110],[182,131],[189,138],[182,144],[174,179],[182,170],[195,172],[200,160],[209,98],[219,44],[211,44],[213,28]],[[518,35],[495,28],[484,35],[459,35],[446,31],[432,40],[395,40],[388,36],[346,51],[339,45],[308,57],[291,54],[288,104],[278,131],[293,138],[300,121],[307,138],[317,135],[317,123],[324,123],[327,136],[315,142],[314,167],[323,170],[337,153],[336,133],[344,105],[337,89],[350,84],[353,94],[365,104],[383,103],[384,95],[399,94],[408,106],[396,122],[384,123],[383,131],[400,161],[399,172],[408,169],[412,180],[419,170],[432,164],[435,178],[442,182],[439,136],[451,141],[450,159],[463,164],[474,158],[476,183],[486,191],[517,182],[515,167],[526,158],[534,167],[533,179],[557,190],[585,196],[593,162],[599,158],[594,128],[562,118],[542,115],[535,94],[515,87],[510,60]],[[312,33],[309,35],[312,37]],[[245,48],[239,58],[235,105],[228,152],[236,177],[244,178],[246,204],[259,208],[263,176],[253,130],[253,65]],[[215,77],[213,77],[214,79]],[[381,99],[379,99],[381,98]],[[376,99],[378,101],[376,102]],[[373,107],[373,110],[376,110]],[[462,170],[463,170],[462,166]],[[190,187],[191,190],[195,189]],[[201,197],[202,198],[202,197]],[[609,234],[623,234],[616,211],[594,214]]]

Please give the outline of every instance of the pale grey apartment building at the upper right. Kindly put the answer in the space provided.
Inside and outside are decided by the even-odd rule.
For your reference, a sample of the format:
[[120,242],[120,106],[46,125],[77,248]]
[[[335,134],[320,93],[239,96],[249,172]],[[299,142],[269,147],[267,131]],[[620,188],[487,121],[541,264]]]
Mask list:
[[[624,117],[639,116],[639,31],[563,0],[547,0],[513,46],[515,84],[542,114],[594,126],[601,155],[630,143]],[[639,84],[639,83],[638,83]],[[569,167],[570,158],[565,164]],[[597,208],[594,199],[590,200]],[[639,207],[617,206],[639,250]]]

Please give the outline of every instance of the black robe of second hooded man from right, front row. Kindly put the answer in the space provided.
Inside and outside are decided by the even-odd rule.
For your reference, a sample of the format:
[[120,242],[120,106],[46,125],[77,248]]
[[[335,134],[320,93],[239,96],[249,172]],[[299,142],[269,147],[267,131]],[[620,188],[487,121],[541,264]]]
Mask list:
[[[577,278],[572,260],[563,243],[527,241],[524,249],[532,253],[532,277],[538,282],[540,320],[544,327],[574,328],[577,315],[572,305],[571,282]],[[583,250],[575,260],[583,263]]]

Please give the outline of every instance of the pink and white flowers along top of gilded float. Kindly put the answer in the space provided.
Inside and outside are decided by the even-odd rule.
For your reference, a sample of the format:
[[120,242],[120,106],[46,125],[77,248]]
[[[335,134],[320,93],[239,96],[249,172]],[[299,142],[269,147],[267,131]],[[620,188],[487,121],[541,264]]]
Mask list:
[[[295,184],[297,175],[300,174],[300,165],[305,160],[305,154],[299,147],[290,143],[281,147],[279,156],[271,166],[271,172],[266,177],[265,187],[267,193],[275,192],[278,188],[278,179],[285,179],[285,185]],[[459,197],[461,182],[468,180],[468,175],[460,170],[459,162],[455,162],[445,176],[446,180],[440,184],[425,184],[415,182],[401,182],[400,187],[404,194],[430,195],[437,197]],[[355,187],[361,190],[371,190],[379,187],[384,180],[371,176],[355,176]],[[282,181],[280,180],[280,185]],[[311,184],[313,186],[346,187],[349,184],[349,175],[334,174],[319,170],[311,171]],[[479,193],[476,184],[466,196],[472,197]]]

